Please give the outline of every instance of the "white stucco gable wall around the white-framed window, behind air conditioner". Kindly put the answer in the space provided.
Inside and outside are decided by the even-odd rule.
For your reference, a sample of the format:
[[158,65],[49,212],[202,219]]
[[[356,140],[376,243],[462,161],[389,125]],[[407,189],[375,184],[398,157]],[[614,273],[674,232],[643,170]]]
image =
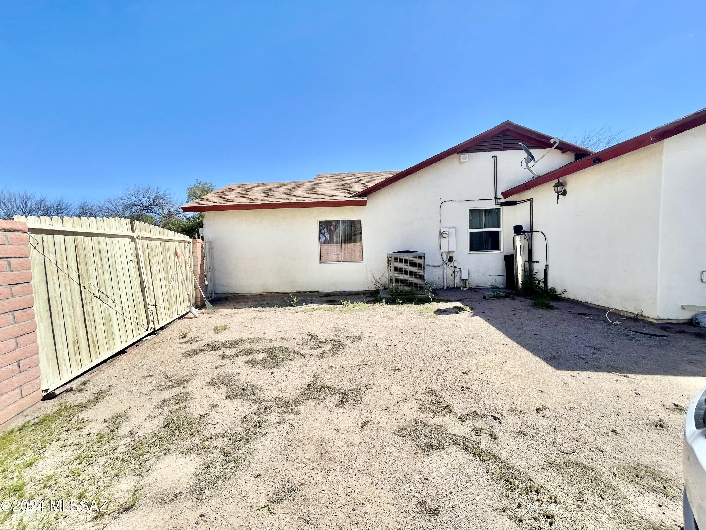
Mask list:
[[[545,151],[535,152],[539,158]],[[468,208],[490,208],[493,201],[493,155],[498,157],[498,190],[508,189],[527,180],[530,172],[522,169],[522,151],[470,153],[466,163],[453,155],[409,175],[368,197],[367,214],[371,226],[380,227],[371,241],[371,254],[385,255],[402,249],[426,254],[426,263],[441,265],[438,247],[439,205],[441,226],[456,229],[455,266],[469,270],[469,283],[477,286],[505,285],[503,254],[511,254],[513,225],[517,211],[529,211],[527,204],[502,208],[503,245],[500,252],[468,252]],[[552,151],[537,169],[546,172],[573,160],[572,154]],[[485,199],[485,200],[478,200]],[[375,276],[385,275],[385,261],[370,264]],[[428,266],[426,280],[443,285],[441,267]],[[453,285],[447,269],[447,283]]]

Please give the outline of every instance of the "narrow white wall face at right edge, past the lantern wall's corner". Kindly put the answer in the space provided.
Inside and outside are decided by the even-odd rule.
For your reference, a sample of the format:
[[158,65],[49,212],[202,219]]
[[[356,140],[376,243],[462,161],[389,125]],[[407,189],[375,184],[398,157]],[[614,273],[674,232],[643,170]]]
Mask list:
[[706,125],[664,142],[657,314],[686,319],[706,306]]

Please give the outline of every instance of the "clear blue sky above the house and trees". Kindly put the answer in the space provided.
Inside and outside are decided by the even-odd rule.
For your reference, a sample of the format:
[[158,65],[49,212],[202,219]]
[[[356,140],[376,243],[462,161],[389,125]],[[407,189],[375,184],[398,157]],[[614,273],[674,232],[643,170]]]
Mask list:
[[634,136],[706,107],[706,2],[0,7],[0,187],[401,170],[510,119]]

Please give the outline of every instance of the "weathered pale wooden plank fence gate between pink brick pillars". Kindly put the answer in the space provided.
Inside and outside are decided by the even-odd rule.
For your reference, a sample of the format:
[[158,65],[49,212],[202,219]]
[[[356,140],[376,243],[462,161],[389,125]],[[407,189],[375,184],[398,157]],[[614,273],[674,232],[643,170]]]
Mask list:
[[30,235],[44,391],[189,311],[186,235],[138,222],[131,229],[122,218],[15,220],[27,223]]

